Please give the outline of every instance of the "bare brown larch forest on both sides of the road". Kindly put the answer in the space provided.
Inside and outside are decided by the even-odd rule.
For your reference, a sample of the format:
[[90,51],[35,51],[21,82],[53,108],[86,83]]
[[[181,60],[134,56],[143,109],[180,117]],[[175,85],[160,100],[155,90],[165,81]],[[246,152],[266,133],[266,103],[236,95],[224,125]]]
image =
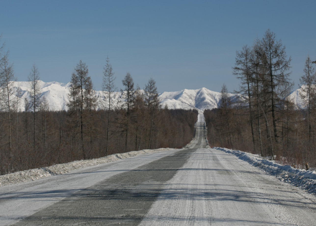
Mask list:
[[[0,40],[1,41],[1,40]],[[224,84],[218,108],[205,110],[208,140],[220,146],[260,154],[294,167],[315,168],[316,61],[307,56],[299,93],[304,108],[289,94],[291,57],[269,29],[252,46],[236,51],[233,75],[240,81],[238,96]],[[169,110],[159,104],[155,80],[143,90],[130,73],[122,80],[123,103],[114,106],[118,91],[109,58],[103,67],[102,90],[97,103],[88,66],[81,60],[70,75],[67,111],[49,109],[40,96],[40,74],[29,72],[29,98],[18,111],[19,89],[13,64],[4,44],[0,48],[0,174],[90,159],[133,150],[181,148],[194,136],[196,110]],[[97,106],[102,106],[98,108]]]

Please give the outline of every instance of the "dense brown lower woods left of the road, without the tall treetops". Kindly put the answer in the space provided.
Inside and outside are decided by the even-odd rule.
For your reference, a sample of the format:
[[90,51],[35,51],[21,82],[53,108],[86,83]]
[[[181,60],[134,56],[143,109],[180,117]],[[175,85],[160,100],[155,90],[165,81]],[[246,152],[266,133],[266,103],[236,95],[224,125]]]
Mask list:
[[[73,124],[69,112],[36,111],[34,149],[33,112],[14,112],[11,114],[14,122],[10,150],[8,118],[2,113],[1,174],[133,150],[181,148],[194,136],[194,123],[197,120],[196,111],[156,109],[151,123],[152,117],[145,104],[138,109],[133,108],[129,118],[124,109],[111,110],[112,125],[106,141],[107,116],[106,110],[83,111],[81,143],[80,128]],[[130,121],[127,143],[126,120]]]

